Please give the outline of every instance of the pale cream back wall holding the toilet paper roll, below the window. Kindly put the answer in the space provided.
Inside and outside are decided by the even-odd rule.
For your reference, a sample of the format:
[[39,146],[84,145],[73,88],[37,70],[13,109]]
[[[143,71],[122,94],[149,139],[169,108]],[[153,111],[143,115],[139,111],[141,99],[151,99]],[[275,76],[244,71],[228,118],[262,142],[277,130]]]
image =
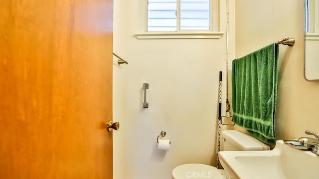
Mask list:
[[[232,0],[231,0],[232,1]],[[169,179],[184,163],[216,166],[218,75],[225,75],[225,35],[220,39],[138,40],[145,30],[146,0],[114,1],[114,52],[128,61],[113,74],[114,179]],[[230,5],[229,58],[234,57],[234,3]],[[226,3],[221,2],[221,31]],[[232,36],[232,38],[231,38]],[[225,80],[224,80],[225,82]],[[149,83],[149,108],[143,108]],[[225,83],[224,83],[225,97]],[[223,102],[225,98],[223,99]],[[166,132],[168,152],[157,149]]]

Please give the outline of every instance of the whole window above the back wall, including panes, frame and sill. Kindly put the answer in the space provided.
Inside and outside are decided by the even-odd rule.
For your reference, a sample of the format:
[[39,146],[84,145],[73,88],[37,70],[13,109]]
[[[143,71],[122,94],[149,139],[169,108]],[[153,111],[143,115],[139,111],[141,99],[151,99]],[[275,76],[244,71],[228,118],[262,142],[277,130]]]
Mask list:
[[145,2],[146,32],[136,33],[137,39],[219,39],[224,34],[219,29],[219,3],[224,4],[224,1],[145,0]]

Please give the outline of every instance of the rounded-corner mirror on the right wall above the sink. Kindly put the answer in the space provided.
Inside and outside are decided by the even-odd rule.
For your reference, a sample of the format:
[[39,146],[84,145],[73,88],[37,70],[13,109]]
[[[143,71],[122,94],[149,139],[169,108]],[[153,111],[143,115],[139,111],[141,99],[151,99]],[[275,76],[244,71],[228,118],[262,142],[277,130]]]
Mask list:
[[319,0],[305,0],[305,79],[319,81]]

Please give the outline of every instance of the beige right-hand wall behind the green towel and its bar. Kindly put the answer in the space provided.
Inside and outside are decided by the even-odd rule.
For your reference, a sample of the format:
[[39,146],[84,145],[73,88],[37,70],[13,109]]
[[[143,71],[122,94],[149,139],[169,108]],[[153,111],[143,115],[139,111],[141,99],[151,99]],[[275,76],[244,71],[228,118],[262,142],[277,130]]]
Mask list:
[[296,38],[293,47],[279,48],[277,140],[319,132],[319,82],[304,79],[303,0],[236,0],[235,6],[236,58],[286,36]]

